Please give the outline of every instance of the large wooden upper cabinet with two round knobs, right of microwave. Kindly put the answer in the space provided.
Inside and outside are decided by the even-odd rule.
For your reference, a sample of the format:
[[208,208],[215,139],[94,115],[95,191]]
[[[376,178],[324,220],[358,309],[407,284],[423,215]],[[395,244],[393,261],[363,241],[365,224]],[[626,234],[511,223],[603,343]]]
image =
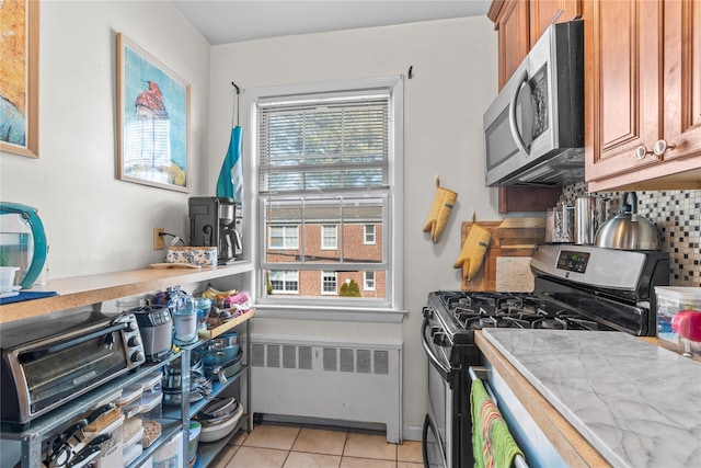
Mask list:
[[701,3],[594,0],[583,18],[589,191],[701,189]]

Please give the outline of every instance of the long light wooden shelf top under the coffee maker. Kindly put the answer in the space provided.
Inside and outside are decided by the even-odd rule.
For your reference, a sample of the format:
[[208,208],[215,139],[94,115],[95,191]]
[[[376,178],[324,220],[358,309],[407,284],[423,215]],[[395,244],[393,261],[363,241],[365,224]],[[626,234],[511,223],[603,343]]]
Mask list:
[[58,296],[4,305],[0,307],[0,323],[150,293],[175,284],[199,283],[251,271],[253,264],[241,261],[202,270],[143,269],[51,279],[47,285],[28,290],[55,290]]

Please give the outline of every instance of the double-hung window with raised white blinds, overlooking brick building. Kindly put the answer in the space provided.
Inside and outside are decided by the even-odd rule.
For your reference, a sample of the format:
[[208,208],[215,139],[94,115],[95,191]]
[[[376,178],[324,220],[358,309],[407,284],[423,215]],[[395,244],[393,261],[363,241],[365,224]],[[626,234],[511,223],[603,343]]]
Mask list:
[[[263,88],[249,98],[256,230],[268,232],[258,277],[271,278],[267,288],[257,282],[257,303],[400,309],[401,79]],[[340,296],[340,271],[369,273],[381,294]],[[300,294],[276,294],[290,290]]]

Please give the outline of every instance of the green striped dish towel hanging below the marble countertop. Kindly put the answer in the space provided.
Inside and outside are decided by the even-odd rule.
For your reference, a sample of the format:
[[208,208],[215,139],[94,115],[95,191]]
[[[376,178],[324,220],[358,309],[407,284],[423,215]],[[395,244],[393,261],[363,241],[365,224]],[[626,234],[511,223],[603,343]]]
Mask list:
[[510,468],[516,455],[524,453],[490,398],[482,380],[474,379],[470,392],[472,404],[472,450],[475,468]]

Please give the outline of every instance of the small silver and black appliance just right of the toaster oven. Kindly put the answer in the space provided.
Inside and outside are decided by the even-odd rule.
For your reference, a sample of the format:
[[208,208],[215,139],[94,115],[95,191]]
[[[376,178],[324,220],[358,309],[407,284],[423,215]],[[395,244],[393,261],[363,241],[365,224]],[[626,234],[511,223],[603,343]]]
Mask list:
[[160,363],[173,352],[173,320],[166,306],[149,305],[129,310],[134,313],[141,340],[146,361]]

